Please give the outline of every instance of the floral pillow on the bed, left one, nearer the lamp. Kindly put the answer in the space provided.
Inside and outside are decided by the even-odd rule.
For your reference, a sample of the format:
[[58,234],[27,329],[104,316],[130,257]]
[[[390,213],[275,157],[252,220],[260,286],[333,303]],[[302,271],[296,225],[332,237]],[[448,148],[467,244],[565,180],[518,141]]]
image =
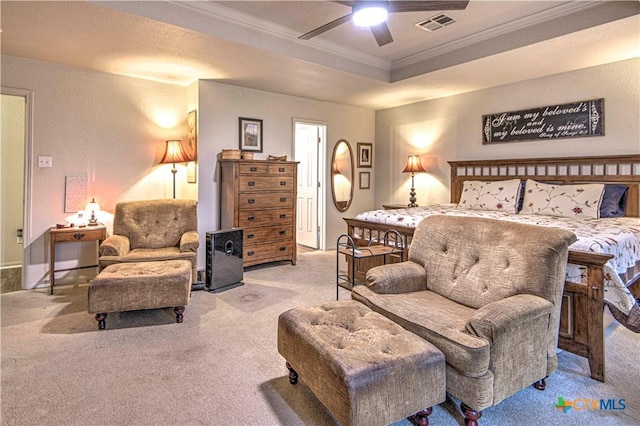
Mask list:
[[462,185],[458,205],[470,210],[517,213],[520,179],[482,182],[467,180]]

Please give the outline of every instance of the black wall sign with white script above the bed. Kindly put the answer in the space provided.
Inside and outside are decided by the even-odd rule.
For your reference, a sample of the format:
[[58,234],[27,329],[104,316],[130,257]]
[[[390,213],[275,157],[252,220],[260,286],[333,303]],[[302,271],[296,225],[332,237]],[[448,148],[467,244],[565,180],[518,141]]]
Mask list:
[[604,135],[604,99],[482,116],[482,143]]

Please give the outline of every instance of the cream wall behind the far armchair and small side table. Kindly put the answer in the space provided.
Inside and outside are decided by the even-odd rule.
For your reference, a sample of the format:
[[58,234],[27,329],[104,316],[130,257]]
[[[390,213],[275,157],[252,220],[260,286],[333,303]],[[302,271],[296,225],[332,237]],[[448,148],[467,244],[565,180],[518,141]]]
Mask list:
[[[158,165],[167,139],[186,136],[187,88],[2,56],[2,86],[34,90],[31,188],[31,264],[25,288],[48,282],[47,230],[73,214],[64,212],[65,176],[86,174],[87,198],[106,210],[108,225],[121,200],[172,197],[171,165]],[[38,168],[51,156],[52,168]],[[178,165],[180,198],[197,198]],[[57,269],[95,263],[89,244],[58,246]],[[89,248],[89,249],[87,249]],[[71,282],[87,270],[69,273]],[[65,277],[58,275],[59,282]]]

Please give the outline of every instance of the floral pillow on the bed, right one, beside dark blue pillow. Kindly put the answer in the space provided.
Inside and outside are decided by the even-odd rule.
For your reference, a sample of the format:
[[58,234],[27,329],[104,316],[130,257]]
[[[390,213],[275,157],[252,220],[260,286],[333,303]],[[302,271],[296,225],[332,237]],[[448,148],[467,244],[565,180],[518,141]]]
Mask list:
[[529,179],[521,213],[598,218],[603,190],[599,183],[553,185]]

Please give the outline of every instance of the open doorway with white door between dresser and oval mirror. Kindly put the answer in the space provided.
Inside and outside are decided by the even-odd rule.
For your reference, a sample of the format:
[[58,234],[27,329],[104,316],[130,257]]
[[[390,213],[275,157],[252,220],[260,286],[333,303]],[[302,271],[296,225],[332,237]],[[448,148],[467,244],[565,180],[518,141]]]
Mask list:
[[296,239],[298,244],[324,250],[324,152],[327,126],[324,123],[294,119],[294,158],[298,161],[298,199]]

